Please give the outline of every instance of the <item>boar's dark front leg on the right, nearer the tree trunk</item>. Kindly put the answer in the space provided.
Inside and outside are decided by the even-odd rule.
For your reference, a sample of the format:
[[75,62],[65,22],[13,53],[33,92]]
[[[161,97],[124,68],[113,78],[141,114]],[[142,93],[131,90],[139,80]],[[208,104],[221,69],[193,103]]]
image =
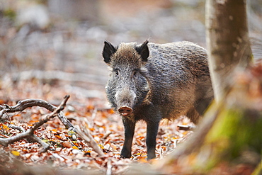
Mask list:
[[159,120],[147,121],[147,159],[156,157],[156,135],[159,129]]

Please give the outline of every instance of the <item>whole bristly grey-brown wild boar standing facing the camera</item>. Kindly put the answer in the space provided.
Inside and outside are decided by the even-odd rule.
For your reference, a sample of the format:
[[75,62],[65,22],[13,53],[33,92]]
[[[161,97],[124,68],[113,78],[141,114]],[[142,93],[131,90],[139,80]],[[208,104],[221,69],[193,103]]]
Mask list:
[[186,115],[197,123],[213,98],[207,54],[190,42],[167,44],[108,41],[103,48],[110,67],[108,101],[122,115],[125,142],[121,157],[131,157],[135,123],[147,123],[147,158],[155,157],[156,135],[162,118]]

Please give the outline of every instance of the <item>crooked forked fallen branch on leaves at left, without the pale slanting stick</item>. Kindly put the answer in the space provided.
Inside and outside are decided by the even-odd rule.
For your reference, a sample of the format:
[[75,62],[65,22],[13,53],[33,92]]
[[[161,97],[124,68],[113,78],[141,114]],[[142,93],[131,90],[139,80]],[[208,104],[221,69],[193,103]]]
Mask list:
[[[49,148],[49,145],[47,143],[43,142],[42,140],[40,140],[40,138],[38,138],[37,136],[35,136],[34,131],[37,130],[44,123],[47,123],[47,121],[50,120],[51,118],[54,118],[55,116],[62,115],[61,112],[64,109],[64,107],[66,106],[68,99],[69,99],[69,95],[65,96],[64,100],[60,103],[60,105],[58,107],[52,106],[47,101],[42,101],[42,100],[38,100],[38,99],[29,99],[29,100],[19,101],[16,106],[7,106],[7,105],[6,106],[0,106],[0,108],[1,108],[0,117],[4,113],[13,113],[13,112],[16,112],[16,111],[23,111],[25,108],[29,108],[29,107],[32,107],[32,106],[41,106],[41,107],[47,108],[48,110],[52,111],[52,113],[46,115],[45,118],[40,120],[38,123],[35,123],[35,125],[33,125],[33,127],[30,128],[30,130],[22,132],[22,133],[20,133],[16,136],[13,136],[13,137],[8,137],[8,138],[4,138],[4,139],[0,138],[0,145],[3,145],[3,146],[6,147],[13,142],[21,140],[23,138],[28,138],[29,140],[40,143],[40,145],[42,145],[42,147],[43,147],[41,152],[46,152],[46,150]],[[63,120],[64,120],[65,117],[60,116],[60,118],[63,118]],[[65,118],[65,119],[67,120],[67,118]],[[66,121],[66,120],[64,120],[64,121]],[[69,123],[69,121],[66,124],[67,124],[67,127],[70,126],[72,129],[74,128],[73,125],[71,123]]]

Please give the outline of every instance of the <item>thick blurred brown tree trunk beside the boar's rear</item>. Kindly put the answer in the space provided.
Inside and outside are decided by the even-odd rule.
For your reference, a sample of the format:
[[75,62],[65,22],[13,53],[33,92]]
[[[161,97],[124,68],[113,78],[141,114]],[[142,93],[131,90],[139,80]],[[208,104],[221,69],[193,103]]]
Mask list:
[[246,0],[206,1],[206,43],[215,101],[220,101],[236,67],[251,60]]

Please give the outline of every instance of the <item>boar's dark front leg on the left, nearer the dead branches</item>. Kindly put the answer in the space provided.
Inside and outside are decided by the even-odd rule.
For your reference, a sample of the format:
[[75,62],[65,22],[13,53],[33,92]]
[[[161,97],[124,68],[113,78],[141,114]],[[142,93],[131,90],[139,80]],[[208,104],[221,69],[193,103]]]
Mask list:
[[135,132],[135,121],[123,118],[125,128],[125,141],[120,156],[123,158],[131,157],[132,140]]

